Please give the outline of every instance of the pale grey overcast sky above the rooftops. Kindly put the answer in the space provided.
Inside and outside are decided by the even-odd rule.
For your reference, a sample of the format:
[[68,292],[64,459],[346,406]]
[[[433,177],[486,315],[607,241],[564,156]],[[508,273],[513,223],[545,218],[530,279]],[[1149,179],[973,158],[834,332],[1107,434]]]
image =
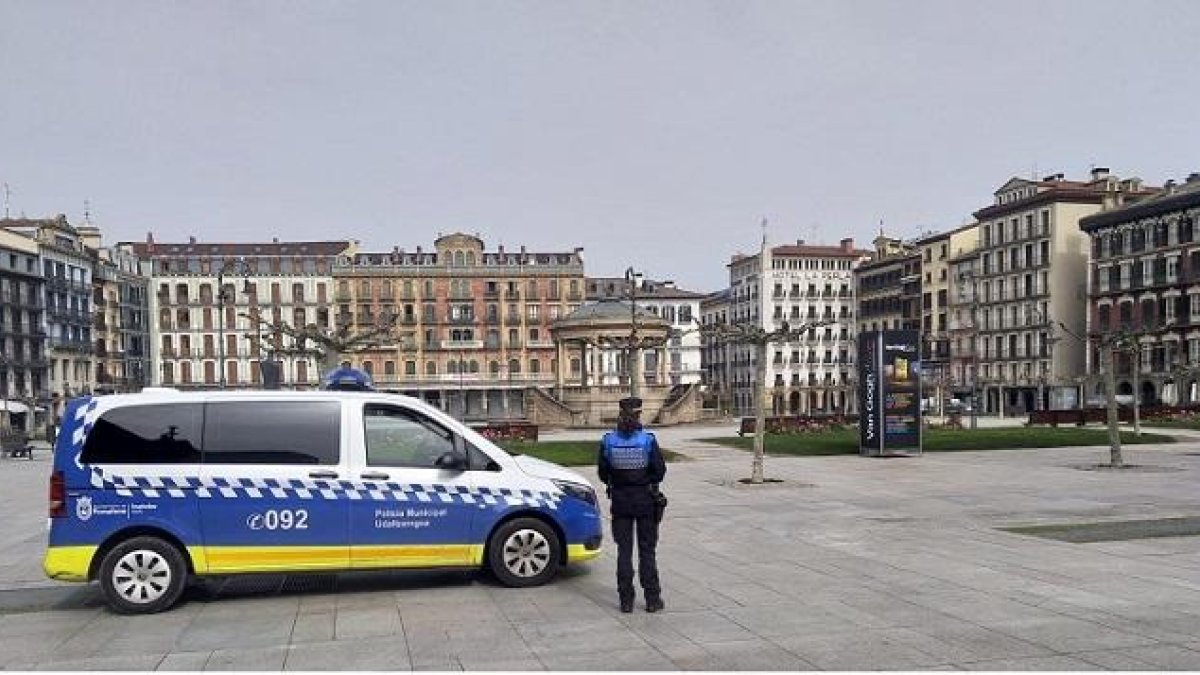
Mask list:
[[583,247],[714,291],[970,222],[1014,175],[1200,171],[1200,2],[0,0],[13,216],[106,243]]

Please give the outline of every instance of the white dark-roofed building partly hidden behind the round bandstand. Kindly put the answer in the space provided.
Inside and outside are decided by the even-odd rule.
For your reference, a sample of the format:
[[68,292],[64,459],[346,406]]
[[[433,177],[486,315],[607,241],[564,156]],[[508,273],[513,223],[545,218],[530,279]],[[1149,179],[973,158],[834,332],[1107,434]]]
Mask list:
[[[635,281],[636,283],[636,281]],[[623,300],[629,301],[630,282],[623,277],[588,277],[587,300]],[[661,317],[671,327],[671,338],[666,345],[667,384],[695,384],[702,380],[701,336],[698,328],[700,303],[703,293],[677,288],[672,281],[643,280],[632,295],[638,307]],[[658,350],[643,353],[642,372],[654,374],[660,370]],[[605,350],[600,356],[605,384],[619,384],[625,369],[625,356],[620,350]]]

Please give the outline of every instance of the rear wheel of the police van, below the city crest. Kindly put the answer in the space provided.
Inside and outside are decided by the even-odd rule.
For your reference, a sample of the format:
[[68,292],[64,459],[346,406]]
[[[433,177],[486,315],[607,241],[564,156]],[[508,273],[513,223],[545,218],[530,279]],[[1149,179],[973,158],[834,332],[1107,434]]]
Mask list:
[[100,587],[118,614],[170,609],[187,584],[184,554],[157,537],[134,537],[113,546],[100,565]]

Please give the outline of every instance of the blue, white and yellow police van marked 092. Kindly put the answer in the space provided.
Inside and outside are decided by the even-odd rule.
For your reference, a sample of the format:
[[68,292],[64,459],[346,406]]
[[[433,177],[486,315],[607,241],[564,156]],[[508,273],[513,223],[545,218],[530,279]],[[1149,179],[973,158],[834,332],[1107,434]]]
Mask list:
[[49,516],[46,574],[98,580],[122,614],[169,609],[192,575],[481,567],[534,586],[601,544],[586,478],[376,393],[76,399]]

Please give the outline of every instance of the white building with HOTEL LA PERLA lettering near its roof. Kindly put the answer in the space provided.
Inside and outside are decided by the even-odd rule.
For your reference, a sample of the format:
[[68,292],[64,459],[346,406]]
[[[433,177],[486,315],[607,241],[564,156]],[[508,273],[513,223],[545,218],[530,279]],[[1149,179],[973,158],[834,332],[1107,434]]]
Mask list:
[[[868,259],[853,239],[838,246],[764,247],[730,262],[730,316],[776,330],[829,322],[799,341],[767,348],[764,404],[772,414],[846,413],[854,396],[854,267]],[[755,347],[730,347],[733,407],[752,414]]]

